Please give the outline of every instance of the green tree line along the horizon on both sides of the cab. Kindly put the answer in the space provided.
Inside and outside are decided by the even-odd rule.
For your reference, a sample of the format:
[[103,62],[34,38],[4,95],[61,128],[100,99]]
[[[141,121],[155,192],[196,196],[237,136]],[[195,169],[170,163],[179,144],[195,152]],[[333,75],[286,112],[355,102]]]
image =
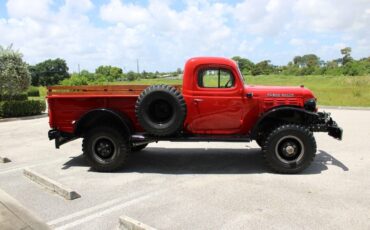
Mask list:
[[[1,48],[2,52],[12,53],[12,47]],[[243,75],[369,75],[370,74],[370,57],[355,60],[351,56],[351,48],[346,47],[340,50],[341,57],[323,61],[315,54],[305,54],[295,56],[287,65],[273,65],[270,60],[263,60],[258,63],[253,63],[251,60],[235,56],[232,59],[238,63],[240,71]],[[21,54],[17,51],[21,57]],[[174,72],[160,73],[146,72],[136,73],[129,71],[124,73],[122,68],[110,65],[102,65],[90,72],[82,70],[79,73],[69,73],[69,68],[65,60],[56,58],[48,59],[36,65],[28,65],[22,61],[22,70],[26,71],[25,75],[30,76],[30,81],[33,86],[49,86],[49,85],[89,85],[103,84],[107,82],[118,81],[134,81],[137,79],[153,79],[160,77],[181,76],[182,70],[178,68]],[[4,67],[0,63],[0,70]],[[10,72],[2,72],[3,79],[0,79],[1,85],[5,86],[12,84],[12,81],[17,78],[9,78],[5,75],[14,75]],[[10,79],[6,81],[5,79]],[[19,79],[19,78],[18,78]],[[28,78],[27,78],[28,79]],[[0,89],[1,91],[2,89]]]

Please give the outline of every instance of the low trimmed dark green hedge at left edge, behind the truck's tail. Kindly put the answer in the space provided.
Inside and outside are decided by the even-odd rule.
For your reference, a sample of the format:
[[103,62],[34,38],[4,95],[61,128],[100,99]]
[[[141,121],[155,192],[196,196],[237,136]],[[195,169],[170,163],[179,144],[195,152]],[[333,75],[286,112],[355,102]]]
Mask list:
[[45,101],[0,102],[0,117],[21,117],[41,114],[46,109]]

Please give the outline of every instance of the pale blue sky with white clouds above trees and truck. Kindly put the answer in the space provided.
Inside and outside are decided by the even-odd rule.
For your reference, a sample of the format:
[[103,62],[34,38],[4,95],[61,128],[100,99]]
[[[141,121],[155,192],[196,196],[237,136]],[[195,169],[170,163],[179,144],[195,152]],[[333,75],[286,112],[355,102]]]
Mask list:
[[370,56],[370,0],[0,0],[0,45],[70,71],[174,71],[195,56],[285,65]]

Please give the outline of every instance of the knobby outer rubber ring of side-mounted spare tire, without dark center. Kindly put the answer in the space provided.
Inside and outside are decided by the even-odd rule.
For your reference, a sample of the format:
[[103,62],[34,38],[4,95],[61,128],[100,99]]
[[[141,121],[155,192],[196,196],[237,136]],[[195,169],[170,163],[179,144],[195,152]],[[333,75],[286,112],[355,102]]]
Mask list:
[[[149,125],[145,120],[142,114],[142,103],[146,97],[150,97],[151,94],[155,94],[157,92],[166,93],[168,97],[172,97],[176,103],[178,104],[179,108],[179,117],[176,117],[175,120],[177,122],[176,125],[169,126],[166,129],[158,129]],[[173,86],[170,85],[152,85],[146,88],[138,97],[136,104],[135,104],[135,114],[140,123],[140,125],[150,134],[155,136],[170,136],[175,134],[176,132],[180,131],[183,126],[183,122],[186,118],[187,109],[186,109],[186,102],[182,94]]]

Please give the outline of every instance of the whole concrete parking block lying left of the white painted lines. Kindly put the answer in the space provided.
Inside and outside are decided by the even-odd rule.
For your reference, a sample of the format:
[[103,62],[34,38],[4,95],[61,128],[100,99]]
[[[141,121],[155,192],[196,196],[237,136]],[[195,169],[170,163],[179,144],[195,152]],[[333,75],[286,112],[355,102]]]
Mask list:
[[74,200],[81,197],[81,195],[78,194],[76,191],[67,188],[64,185],[58,183],[57,181],[47,178],[30,169],[24,169],[23,175],[29,178],[30,180],[34,181],[35,183],[40,184],[44,188],[62,196],[67,200]]

